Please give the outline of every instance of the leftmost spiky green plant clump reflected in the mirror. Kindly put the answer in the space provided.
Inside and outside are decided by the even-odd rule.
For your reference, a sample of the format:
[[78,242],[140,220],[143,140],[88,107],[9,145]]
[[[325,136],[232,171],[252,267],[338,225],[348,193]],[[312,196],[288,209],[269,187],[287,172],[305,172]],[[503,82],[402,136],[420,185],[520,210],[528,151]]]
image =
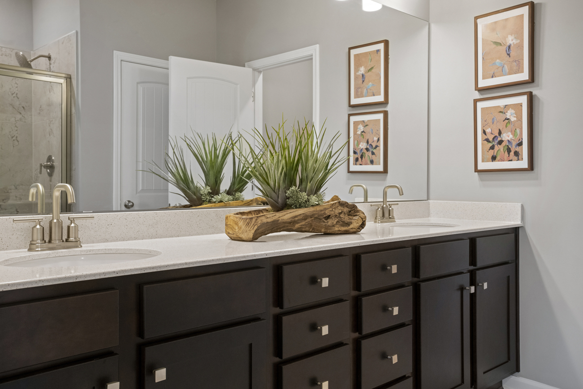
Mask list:
[[148,170],[141,171],[149,171],[167,183],[174,185],[182,193],[172,193],[183,197],[189,204],[193,206],[202,205],[202,188],[196,183],[194,178],[192,178],[190,167],[187,167],[184,160],[184,151],[181,146],[178,145],[176,139],[174,139],[174,141],[172,138],[168,139],[168,144],[172,150],[172,155],[168,154],[168,151],[166,151],[166,156],[164,157],[164,166],[166,166],[168,173],[166,173],[166,171],[155,162],[148,162],[155,170],[149,168]]

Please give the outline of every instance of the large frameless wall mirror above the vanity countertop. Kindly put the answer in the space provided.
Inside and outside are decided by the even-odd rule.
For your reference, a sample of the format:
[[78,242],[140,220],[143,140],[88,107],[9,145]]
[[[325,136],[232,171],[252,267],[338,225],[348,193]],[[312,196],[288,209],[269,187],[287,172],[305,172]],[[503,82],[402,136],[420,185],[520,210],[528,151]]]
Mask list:
[[[203,184],[181,138],[215,134],[222,144],[229,132],[248,139],[253,128],[305,120],[324,125],[325,141],[339,132],[340,146],[349,114],[371,111],[387,111],[387,173],[349,173],[347,161],[326,197],[362,201],[349,188],[364,184],[375,201],[399,184],[404,195],[389,197],[427,199],[429,23],[389,3],[0,0],[0,215],[42,211],[29,201],[34,183],[47,211],[62,182],[75,189],[76,204],[64,205],[72,212],[184,206],[180,190],[147,171],[164,169],[178,145]],[[349,48],[382,40],[388,103],[349,107],[349,81],[361,77]],[[233,174],[229,159],[220,190]],[[259,193],[249,184],[243,195]]]

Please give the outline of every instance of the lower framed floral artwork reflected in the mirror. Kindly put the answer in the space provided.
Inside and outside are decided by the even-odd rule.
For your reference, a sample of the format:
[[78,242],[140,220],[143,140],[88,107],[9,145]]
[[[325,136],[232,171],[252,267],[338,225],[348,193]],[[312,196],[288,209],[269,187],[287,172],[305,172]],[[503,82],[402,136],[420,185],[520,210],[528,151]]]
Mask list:
[[388,111],[348,115],[348,173],[388,172]]

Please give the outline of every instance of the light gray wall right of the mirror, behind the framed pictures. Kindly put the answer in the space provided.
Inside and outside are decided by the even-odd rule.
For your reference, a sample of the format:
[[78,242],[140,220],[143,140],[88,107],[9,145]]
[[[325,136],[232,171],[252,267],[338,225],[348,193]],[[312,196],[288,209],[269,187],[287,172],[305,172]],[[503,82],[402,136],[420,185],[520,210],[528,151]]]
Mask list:
[[[524,204],[521,229],[521,363],[526,379],[583,387],[583,75],[576,64],[581,0],[535,5],[535,83],[477,93],[473,18],[514,1],[431,0],[430,175],[432,200]],[[473,99],[532,90],[532,172],[474,173]],[[448,150],[455,149],[455,158]]]

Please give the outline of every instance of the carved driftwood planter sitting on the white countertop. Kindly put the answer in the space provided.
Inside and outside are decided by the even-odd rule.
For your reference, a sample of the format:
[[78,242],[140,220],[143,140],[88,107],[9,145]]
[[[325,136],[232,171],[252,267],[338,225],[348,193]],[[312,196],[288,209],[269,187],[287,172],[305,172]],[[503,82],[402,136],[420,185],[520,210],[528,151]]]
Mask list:
[[225,216],[224,232],[233,240],[252,241],[275,232],[354,234],[364,226],[364,212],[356,205],[338,199],[310,208],[280,212],[263,208],[231,213]]

